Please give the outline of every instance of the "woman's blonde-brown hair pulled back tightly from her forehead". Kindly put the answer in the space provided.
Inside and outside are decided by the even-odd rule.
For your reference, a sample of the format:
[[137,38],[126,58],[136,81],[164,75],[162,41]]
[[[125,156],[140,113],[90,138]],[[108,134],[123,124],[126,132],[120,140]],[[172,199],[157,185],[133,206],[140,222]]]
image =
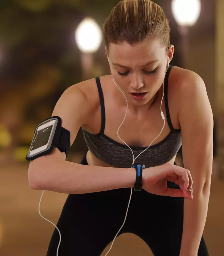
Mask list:
[[122,0],[104,21],[104,41],[108,54],[109,43],[126,41],[130,45],[144,39],[158,38],[165,47],[170,45],[169,21],[162,8],[150,0]]

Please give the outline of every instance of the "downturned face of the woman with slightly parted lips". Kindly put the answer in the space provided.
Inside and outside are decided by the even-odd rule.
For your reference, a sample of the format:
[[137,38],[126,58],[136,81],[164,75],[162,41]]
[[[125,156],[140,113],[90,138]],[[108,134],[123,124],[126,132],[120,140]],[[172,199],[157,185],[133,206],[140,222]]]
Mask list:
[[[173,49],[171,45],[167,54],[166,48],[156,39],[148,39],[133,46],[127,42],[110,43],[108,59],[115,83],[133,102],[146,104],[163,84],[168,56],[170,62]],[[132,94],[145,92],[147,94],[140,100]]]

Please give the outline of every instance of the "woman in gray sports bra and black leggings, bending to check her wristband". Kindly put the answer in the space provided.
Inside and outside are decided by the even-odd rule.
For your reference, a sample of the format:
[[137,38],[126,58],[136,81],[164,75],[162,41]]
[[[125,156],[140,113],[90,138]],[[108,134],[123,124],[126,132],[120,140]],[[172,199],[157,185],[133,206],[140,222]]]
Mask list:
[[[52,114],[60,116],[62,126],[71,132],[71,144],[83,128],[89,150],[82,168],[64,161],[65,154],[57,148],[38,160],[42,166],[47,163],[48,172],[40,168],[42,178],[33,187],[69,194],[57,223],[62,238],[58,255],[100,256],[124,223],[118,235],[136,234],[155,256],[207,256],[202,232],[210,191],[213,118],[205,85],[194,72],[169,65],[174,53],[170,27],[154,2],[120,1],[105,20],[104,40],[111,75],[69,87]],[[163,127],[160,107],[165,126],[158,136]],[[121,141],[117,131],[126,110]],[[133,192],[124,222],[135,180],[132,152],[125,144],[135,157],[148,149],[136,160],[147,167],[143,189]],[[187,169],[175,165],[181,145]],[[188,170],[191,174],[181,178]],[[184,200],[192,198],[192,178],[194,199]],[[55,229],[47,256],[55,256],[58,245]]]

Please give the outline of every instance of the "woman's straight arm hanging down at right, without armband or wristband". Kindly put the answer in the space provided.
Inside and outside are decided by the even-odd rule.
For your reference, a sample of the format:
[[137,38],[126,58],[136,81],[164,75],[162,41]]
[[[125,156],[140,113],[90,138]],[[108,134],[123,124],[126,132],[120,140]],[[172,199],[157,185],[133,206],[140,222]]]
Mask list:
[[213,115],[205,84],[190,72],[184,79],[179,122],[184,167],[193,178],[193,200],[184,202],[180,256],[197,256],[208,211],[213,159]]

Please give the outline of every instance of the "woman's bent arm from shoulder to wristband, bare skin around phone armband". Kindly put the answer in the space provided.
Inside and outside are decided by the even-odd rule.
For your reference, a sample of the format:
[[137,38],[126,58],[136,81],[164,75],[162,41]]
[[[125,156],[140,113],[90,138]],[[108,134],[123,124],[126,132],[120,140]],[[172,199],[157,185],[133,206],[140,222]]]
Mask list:
[[[87,124],[96,105],[100,104],[91,93],[82,89],[93,82],[87,80],[66,89],[53,110],[52,116],[59,116],[61,125],[70,131],[71,145],[80,127]],[[32,160],[28,170],[30,187],[71,194],[134,187],[134,168],[86,166],[65,159],[65,153],[54,148],[50,154]]]

